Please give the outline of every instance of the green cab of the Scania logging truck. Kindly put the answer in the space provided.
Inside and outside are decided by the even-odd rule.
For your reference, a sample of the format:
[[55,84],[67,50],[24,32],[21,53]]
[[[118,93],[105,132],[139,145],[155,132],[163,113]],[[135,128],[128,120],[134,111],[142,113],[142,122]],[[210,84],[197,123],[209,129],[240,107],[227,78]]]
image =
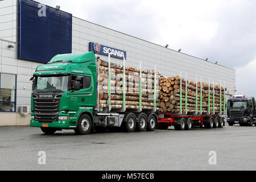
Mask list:
[[41,127],[47,134],[76,129],[81,114],[90,117],[85,127],[86,122],[93,122],[97,88],[93,52],[56,55],[36,68],[31,81],[32,127]]

